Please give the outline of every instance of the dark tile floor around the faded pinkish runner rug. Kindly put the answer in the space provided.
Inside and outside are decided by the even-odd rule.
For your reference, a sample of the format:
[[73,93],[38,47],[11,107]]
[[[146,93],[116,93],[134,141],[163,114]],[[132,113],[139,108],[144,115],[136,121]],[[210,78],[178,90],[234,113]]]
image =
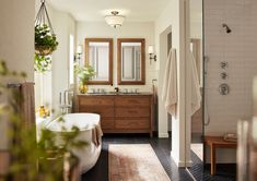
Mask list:
[[[82,176],[82,181],[108,181],[108,145],[109,144],[140,144],[149,143],[153,147],[156,156],[159,157],[161,164],[163,165],[165,171],[172,181],[192,181],[186,169],[179,169],[176,167],[173,159],[171,159],[172,143],[171,138],[149,138],[148,135],[142,134],[130,134],[130,135],[105,135],[103,137],[103,148],[94,168]],[[197,160],[197,156],[195,155]],[[200,169],[202,168],[202,169]],[[219,170],[219,168],[218,168]],[[199,172],[198,172],[199,171]],[[190,172],[198,180],[217,180],[217,181],[229,181],[230,178],[233,180],[234,177],[231,176],[218,176],[211,177],[208,171],[205,171],[203,165],[200,162],[195,162]]]

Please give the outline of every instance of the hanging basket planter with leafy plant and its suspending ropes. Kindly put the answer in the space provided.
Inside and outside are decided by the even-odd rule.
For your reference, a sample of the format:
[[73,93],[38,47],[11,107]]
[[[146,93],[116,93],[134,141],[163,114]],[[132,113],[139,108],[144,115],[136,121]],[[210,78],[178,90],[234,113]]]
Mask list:
[[57,49],[58,41],[47,13],[45,1],[42,0],[40,9],[35,21],[35,53],[48,56]]

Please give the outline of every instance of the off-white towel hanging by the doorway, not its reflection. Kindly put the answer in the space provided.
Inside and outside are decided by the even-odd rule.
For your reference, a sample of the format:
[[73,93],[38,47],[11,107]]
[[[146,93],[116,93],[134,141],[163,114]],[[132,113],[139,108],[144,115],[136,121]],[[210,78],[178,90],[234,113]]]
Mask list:
[[177,110],[177,65],[176,49],[168,52],[166,68],[164,72],[162,99],[168,113],[176,117]]

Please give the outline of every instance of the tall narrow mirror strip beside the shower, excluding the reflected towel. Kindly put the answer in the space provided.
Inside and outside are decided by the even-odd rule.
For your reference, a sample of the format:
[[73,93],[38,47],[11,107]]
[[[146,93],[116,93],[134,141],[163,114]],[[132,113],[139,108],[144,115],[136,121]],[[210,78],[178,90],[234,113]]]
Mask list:
[[[190,12],[190,56],[192,57],[192,63],[196,68],[196,74],[198,77],[198,84],[201,93],[201,106],[191,116],[191,143],[190,143],[190,160],[191,167],[188,167],[189,172],[195,180],[201,180],[205,170],[203,159],[203,138],[205,138],[205,65],[202,55],[202,0],[189,0]],[[196,173],[195,170],[198,170]]]

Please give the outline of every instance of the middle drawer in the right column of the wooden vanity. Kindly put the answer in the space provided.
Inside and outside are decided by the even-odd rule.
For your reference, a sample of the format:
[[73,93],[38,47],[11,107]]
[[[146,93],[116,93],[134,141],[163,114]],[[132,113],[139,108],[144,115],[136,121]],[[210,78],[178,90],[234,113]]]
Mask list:
[[116,108],[116,117],[150,117],[150,109],[147,108]]

